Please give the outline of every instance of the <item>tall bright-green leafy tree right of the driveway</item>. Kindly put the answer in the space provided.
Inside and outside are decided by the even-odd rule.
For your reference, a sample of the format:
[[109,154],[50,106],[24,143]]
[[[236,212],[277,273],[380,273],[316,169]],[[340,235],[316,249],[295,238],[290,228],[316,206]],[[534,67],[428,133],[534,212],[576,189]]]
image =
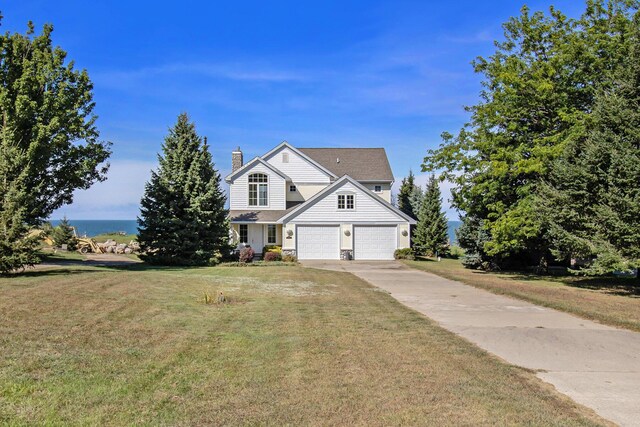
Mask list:
[[[444,170],[454,206],[481,221],[484,252],[502,265],[538,263],[551,241],[537,212],[542,183],[566,147],[583,141],[597,89],[629,52],[636,2],[589,0],[579,19],[555,8],[504,24],[504,40],[474,61],[483,76],[470,122],[443,134],[423,170]],[[466,248],[465,248],[466,249]]]

